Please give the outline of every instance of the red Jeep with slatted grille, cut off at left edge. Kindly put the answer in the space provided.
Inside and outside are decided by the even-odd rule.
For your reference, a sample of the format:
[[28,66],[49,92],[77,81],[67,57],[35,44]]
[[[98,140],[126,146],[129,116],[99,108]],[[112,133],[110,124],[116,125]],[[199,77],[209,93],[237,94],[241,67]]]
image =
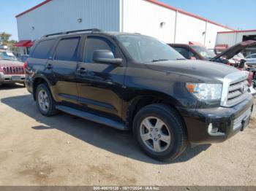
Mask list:
[[7,83],[24,84],[25,71],[23,63],[7,50],[0,50],[0,85]]

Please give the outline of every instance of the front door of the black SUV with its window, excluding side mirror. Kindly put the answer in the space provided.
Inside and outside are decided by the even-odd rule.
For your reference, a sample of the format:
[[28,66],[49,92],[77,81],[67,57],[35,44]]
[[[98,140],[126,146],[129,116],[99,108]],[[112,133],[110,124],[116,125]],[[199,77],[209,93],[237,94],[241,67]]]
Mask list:
[[83,62],[77,71],[78,102],[91,112],[121,119],[124,61],[120,66],[93,61],[95,50],[110,50],[116,58],[121,58],[113,42],[101,36],[86,39]]

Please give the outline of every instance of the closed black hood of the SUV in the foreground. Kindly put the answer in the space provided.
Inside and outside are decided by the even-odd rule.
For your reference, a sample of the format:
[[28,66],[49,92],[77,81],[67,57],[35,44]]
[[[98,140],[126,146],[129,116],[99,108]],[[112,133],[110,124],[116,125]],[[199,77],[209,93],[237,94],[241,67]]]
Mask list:
[[238,69],[222,63],[199,60],[162,61],[145,64],[149,69],[179,74],[203,82],[219,82],[227,74],[238,71]]

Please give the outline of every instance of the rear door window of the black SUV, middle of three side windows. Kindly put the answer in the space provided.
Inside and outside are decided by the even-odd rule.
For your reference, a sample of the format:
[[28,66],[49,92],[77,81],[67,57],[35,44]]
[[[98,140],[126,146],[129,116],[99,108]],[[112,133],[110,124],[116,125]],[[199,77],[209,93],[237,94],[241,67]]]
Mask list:
[[78,47],[80,37],[74,37],[69,39],[61,39],[56,52],[56,61],[78,61]]

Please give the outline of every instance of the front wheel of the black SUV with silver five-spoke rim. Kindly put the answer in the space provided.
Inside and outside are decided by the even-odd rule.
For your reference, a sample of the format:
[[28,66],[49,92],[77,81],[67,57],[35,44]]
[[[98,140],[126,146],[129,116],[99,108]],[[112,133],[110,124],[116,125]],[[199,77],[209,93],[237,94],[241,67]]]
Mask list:
[[174,160],[187,148],[184,122],[175,109],[165,104],[140,109],[133,121],[133,132],[143,151],[156,160]]

